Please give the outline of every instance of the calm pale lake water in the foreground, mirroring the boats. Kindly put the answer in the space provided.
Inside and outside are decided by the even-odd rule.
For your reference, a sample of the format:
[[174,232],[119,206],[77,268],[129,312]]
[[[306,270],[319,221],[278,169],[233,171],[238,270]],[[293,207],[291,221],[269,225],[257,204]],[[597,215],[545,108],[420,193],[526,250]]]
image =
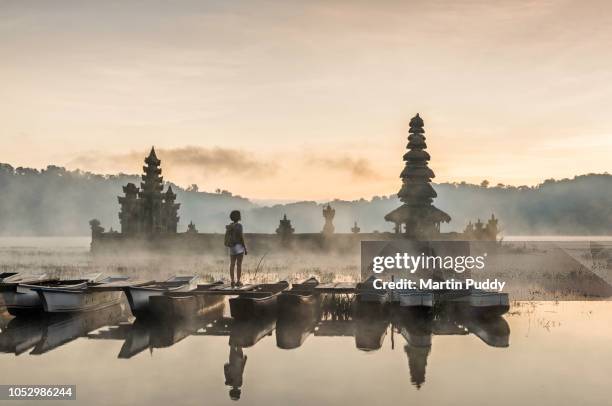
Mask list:
[[[27,250],[11,255],[29,260]],[[0,384],[74,384],[77,401],[66,404],[84,405],[234,404],[236,389],[247,405],[612,403],[607,301],[518,302],[488,322],[349,312],[245,324],[228,312],[175,325],[135,321],[125,304],[52,319],[4,314]]]

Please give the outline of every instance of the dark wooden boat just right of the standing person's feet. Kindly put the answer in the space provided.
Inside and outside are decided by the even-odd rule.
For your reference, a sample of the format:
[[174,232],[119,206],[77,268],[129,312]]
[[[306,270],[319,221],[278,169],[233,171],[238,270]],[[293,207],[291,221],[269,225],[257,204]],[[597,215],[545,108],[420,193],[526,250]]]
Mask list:
[[287,288],[289,283],[281,281],[262,283],[251,290],[239,293],[229,300],[232,317],[236,320],[249,320],[276,315],[278,297]]

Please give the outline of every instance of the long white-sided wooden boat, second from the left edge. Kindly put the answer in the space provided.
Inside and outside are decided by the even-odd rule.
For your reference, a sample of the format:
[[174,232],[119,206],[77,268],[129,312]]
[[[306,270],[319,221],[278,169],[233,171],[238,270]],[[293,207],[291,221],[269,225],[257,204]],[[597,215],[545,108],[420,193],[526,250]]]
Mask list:
[[130,282],[127,277],[108,277],[97,282],[79,285],[33,286],[47,313],[82,312],[98,310],[117,304],[123,290],[130,285],[149,282]]

